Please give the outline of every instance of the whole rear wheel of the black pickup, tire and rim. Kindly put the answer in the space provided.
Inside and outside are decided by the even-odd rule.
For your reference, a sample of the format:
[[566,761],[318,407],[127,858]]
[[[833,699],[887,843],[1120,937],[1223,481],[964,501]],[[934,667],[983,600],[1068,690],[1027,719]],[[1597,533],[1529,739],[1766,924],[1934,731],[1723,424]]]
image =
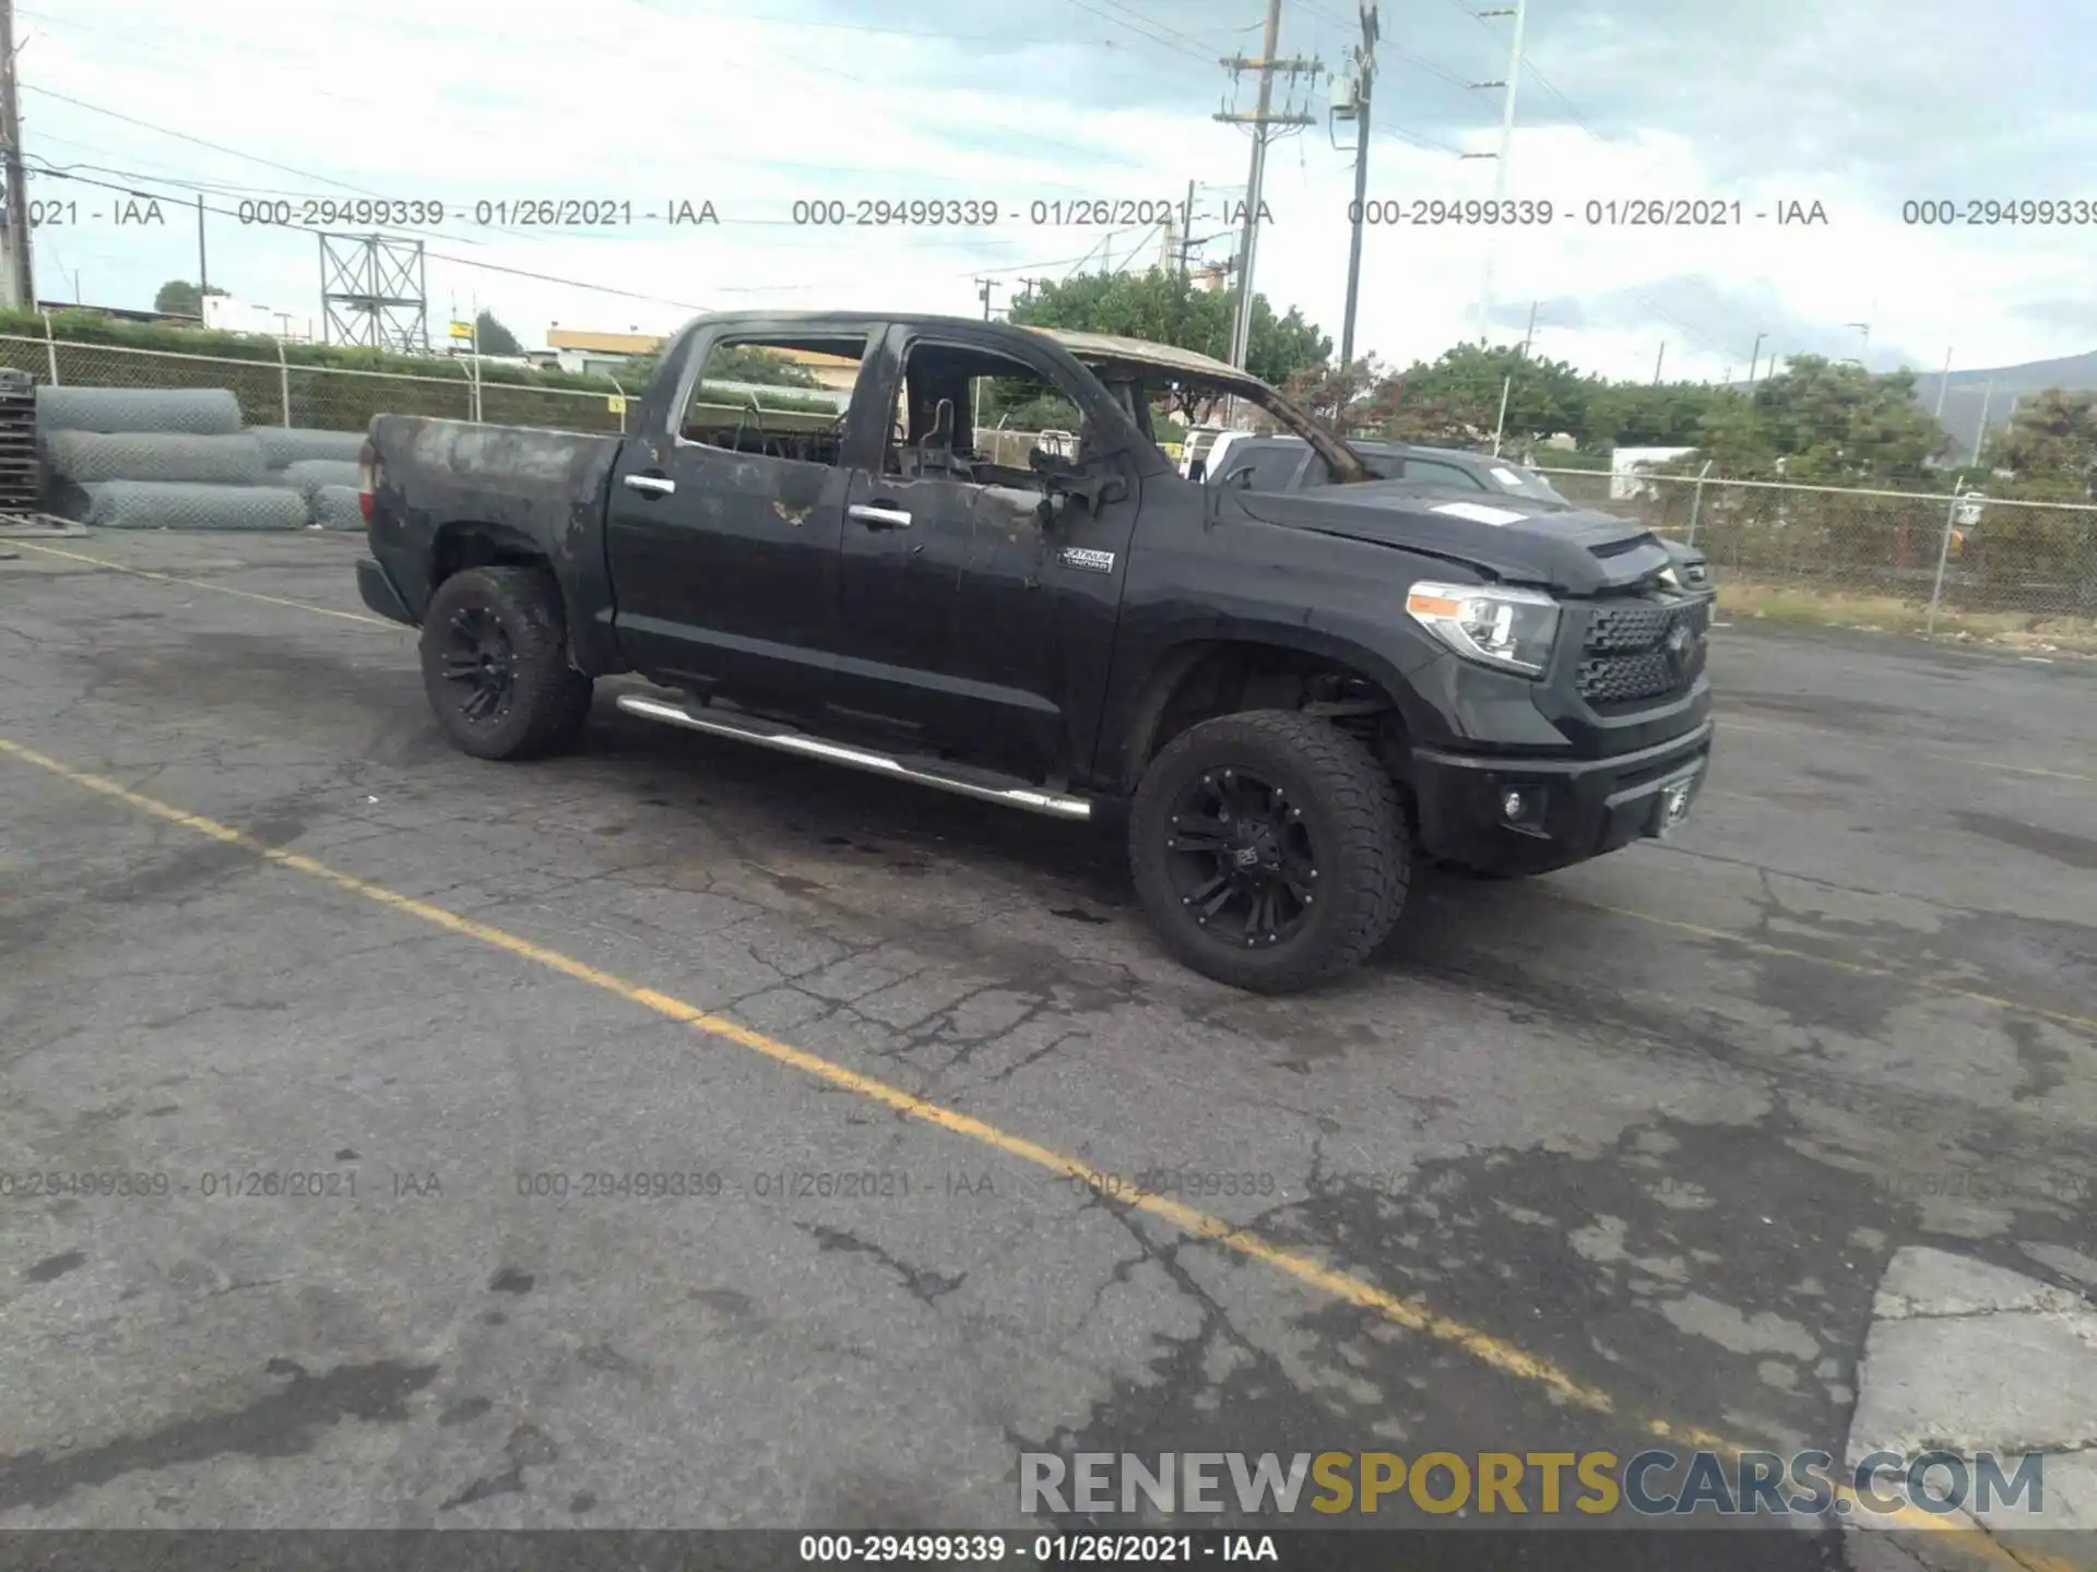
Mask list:
[[568,664],[560,587],[545,568],[468,568],[421,623],[421,685],[476,759],[537,759],[575,742],[591,679]]

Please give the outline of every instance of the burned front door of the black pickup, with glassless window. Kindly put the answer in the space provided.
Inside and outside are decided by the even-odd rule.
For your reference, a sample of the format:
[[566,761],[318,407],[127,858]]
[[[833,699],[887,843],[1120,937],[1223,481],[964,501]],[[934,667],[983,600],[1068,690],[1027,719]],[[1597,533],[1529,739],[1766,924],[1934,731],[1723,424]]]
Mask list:
[[1036,780],[1088,757],[1134,530],[1122,501],[1044,518],[1028,455],[1084,423],[1055,363],[967,329],[898,327],[893,409],[853,470],[839,553],[835,702]]

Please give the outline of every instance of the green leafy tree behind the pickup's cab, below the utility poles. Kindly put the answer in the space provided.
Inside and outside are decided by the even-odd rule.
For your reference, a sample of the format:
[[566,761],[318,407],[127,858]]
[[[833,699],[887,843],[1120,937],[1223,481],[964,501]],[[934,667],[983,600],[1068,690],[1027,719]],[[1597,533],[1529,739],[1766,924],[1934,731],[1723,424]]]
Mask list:
[[[1009,316],[1021,327],[1116,333],[1229,361],[1235,310],[1235,293],[1195,289],[1179,272],[1151,268],[1086,272],[1061,283],[1042,281],[1013,302]],[[1252,340],[1246,352],[1246,369],[1252,375],[1279,386],[1329,354],[1332,337],[1304,321],[1296,306],[1275,314],[1267,296],[1252,296]]]

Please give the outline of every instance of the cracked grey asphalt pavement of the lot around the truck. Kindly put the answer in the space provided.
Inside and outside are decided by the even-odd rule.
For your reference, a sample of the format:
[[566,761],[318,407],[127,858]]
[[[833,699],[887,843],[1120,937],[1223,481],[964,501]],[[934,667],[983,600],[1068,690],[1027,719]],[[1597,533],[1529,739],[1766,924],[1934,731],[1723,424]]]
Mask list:
[[1262,1000],[1162,956],[1099,832],[608,687],[577,757],[457,755],[354,539],[15,545],[0,1526],[952,1528],[1015,1520],[1021,1450],[1655,1421],[1841,1455],[1896,1251],[2097,1289],[2091,664],[1726,629],[1678,838],[1424,876]]

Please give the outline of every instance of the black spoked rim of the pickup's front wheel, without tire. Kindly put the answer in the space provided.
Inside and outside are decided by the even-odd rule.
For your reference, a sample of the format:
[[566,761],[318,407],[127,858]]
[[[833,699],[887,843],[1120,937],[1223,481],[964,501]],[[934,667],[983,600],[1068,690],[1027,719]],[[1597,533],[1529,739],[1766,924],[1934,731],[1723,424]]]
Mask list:
[[1288,790],[1244,769],[1212,769],[1172,803],[1172,889],[1195,924],[1248,949],[1296,935],[1317,901],[1319,857]]

